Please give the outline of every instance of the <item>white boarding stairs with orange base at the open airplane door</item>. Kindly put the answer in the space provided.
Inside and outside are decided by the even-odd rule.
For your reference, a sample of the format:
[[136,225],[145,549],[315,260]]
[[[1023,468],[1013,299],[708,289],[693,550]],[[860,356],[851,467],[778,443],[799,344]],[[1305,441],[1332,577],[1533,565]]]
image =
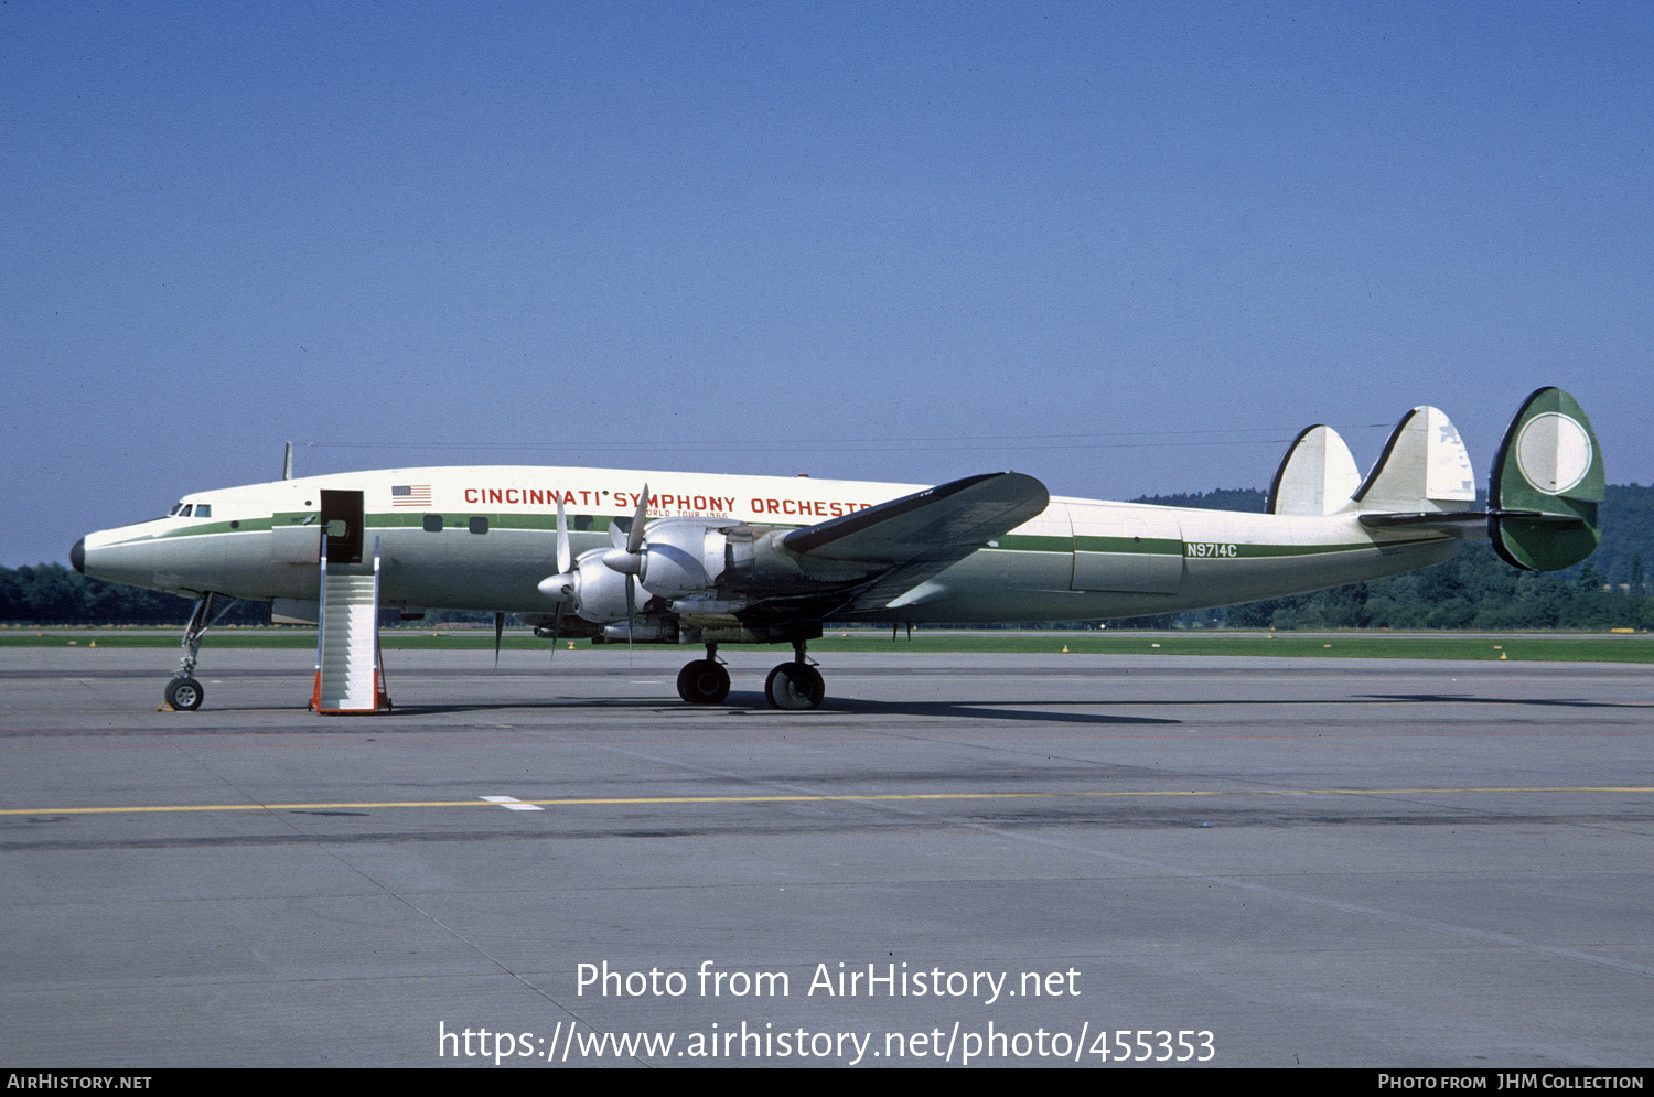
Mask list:
[[329,564],[321,556],[321,622],[311,708],[323,715],[390,708],[379,652],[379,543],[372,563]]

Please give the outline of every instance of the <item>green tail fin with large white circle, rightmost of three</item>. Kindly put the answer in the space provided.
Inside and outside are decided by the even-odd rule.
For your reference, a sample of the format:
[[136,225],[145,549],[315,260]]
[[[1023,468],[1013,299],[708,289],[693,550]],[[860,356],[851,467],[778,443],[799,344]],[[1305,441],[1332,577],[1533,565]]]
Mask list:
[[1601,538],[1596,508],[1606,485],[1603,448],[1580,404],[1561,389],[1533,392],[1494,460],[1487,493],[1494,549],[1527,571],[1580,563]]

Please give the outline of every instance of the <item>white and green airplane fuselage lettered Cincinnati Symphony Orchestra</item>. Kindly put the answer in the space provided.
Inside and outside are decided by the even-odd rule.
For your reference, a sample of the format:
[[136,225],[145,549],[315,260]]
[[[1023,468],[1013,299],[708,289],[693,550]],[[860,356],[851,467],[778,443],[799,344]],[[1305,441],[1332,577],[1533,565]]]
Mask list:
[[[809,526],[923,485],[526,465],[400,468],[202,491],[167,518],[88,534],[89,576],[180,594],[316,599],[321,493],[361,491],[380,601],[543,614],[561,495],[576,556],[609,544],[648,486],[648,518]],[[202,513],[205,508],[207,513]],[[1032,521],[858,619],[1082,620],[1226,606],[1441,563],[1460,541],[1277,516],[1052,498]],[[647,597],[647,592],[645,592]]]

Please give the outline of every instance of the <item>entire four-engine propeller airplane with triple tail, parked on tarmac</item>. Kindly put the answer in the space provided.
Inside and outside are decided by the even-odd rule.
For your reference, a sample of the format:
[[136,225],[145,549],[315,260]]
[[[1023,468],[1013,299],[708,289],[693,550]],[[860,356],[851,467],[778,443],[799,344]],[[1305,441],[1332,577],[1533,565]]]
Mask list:
[[[824,622],[1027,622],[1164,614],[1297,594],[1436,564],[1490,538],[1551,571],[1596,548],[1604,493],[1591,424],[1561,389],[1527,399],[1475,506],[1454,425],[1416,407],[1361,478],[1343,438],[1310,427],[1282,460],[1267,515],[1052,498],[987,473],[935,488],[842,480],[453,467],[332,473],[185,496],[165,518],[89,533],[78,571],[194,596],[167,702],[195,708],[215,601],[351,632],[319,711],[372,711],[380,606],[506,612],[551,637],[703,644],[678,693],[719,703],[719,644],[791,644],[777,708],[815,708],[805,644]],[[362,609],[366,607],[366,609]],[[362,616],[366,612],[366,617]],[[362,624],[366,620],[366,625]],[[341,649],[342,650],[342,649]],[[370,695],[344,678],[366,678]],[[354,690],[354,692],[352,692]],[[349,697],[347,697],[349,693]]]

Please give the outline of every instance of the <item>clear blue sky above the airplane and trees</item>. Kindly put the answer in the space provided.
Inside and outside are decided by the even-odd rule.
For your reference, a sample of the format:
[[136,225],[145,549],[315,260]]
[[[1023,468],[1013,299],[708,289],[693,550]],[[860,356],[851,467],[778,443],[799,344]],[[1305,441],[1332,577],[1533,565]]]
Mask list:
[[1651,58],[1649,3],[13,0],[0,564],[288,438],[1130,498],[1414,404],[1485,475],[1560,384],[1649,483]]

